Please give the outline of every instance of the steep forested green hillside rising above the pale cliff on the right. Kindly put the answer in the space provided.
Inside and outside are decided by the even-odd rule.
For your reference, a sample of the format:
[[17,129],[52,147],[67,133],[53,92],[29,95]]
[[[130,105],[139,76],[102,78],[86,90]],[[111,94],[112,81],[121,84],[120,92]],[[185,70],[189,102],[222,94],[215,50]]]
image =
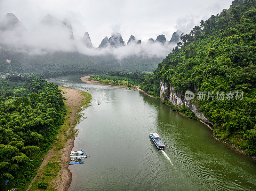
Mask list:
[[[183,94],[206,92],[205,100],[190,102],[214,124],[214,134],[256,155],[256,1],[234,0],[181,40],[141,88],[159,95],[163,80]],[[207,100],[208,92],[233,97]],[[243,99],[236,100],[236,92],[244,92]]]

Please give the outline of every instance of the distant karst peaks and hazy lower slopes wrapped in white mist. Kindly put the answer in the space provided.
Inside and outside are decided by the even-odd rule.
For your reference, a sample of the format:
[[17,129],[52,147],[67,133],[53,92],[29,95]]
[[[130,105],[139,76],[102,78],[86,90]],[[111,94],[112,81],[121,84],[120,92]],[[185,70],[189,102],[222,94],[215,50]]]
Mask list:
[[97,65],[97,71],[108,67],[152,71],[176,46],[168,44],[163,34],[152,39],[155,43],[143,43],[131,35],[126,44],[120,33],[112,33],[96,48],[88,32],[76,39],[69,20],[52,15],[46,15],[33,29],[26,30],[14,14],[8,13],[0,26],[0,69],[6,73],[11,72],[10,67],[12,72],[21,74],[57,71],[56,68],[73,71],[82,67],[89,71],[88,66],[92,68],[93,64]]

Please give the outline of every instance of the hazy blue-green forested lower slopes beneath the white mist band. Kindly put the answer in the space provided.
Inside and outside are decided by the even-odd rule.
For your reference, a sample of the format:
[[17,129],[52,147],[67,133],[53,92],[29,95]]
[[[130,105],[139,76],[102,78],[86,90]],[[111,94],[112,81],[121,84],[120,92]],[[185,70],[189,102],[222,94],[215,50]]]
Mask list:
[[[10,59],[8,63],[5,59]],[[153,71],[163,58],[113,55],[87,56],[77,52],[28,55],[0,48],[0,74],[33,74],[41,78],[73,74],[103,74],[110,70]]]

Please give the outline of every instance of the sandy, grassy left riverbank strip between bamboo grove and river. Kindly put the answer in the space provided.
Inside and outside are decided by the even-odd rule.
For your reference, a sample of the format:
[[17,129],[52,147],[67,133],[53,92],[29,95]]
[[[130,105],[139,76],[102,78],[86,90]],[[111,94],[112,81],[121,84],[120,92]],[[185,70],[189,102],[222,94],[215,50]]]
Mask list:
[[[81,108],[85,109],[88,107],[92,98],[87,92],[66,87],[60,87],[59,89],[67,107],[67,114],[64,123],[59,129],[54,146],[44,157],[44,161],[39,167],[35,178],[28,186],[27,191],[39,190],[37,188],[37,183],[41,180],[46,180],[48,182],[47,188],[58,191],[67,191],[71,184],[72,173],[68,169],[68,163],[70,162],[68,154],[74,147],[75,135],[77,133],[74,128],[82,116],[78,112],[81,111]],[[49,169],[49,166],[52,168],[50,167]],[[56,171],[56,168],[58,171]],[[55,171],[52,173],[53,177],[45,176],[45,172],[49,171]]]

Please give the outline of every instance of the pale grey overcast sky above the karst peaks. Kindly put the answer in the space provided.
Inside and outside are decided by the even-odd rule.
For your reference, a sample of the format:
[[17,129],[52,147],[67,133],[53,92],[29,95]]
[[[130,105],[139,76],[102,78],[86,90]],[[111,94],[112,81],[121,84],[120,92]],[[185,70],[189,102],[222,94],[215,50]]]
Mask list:
[[232,0],[0,0],[0,20],[13,13],[28,29],[47,14],[68,18],[75,38],[88,31],[98,47],[105,36],[121,33],[125,43],[131,35],[142,41],[164,34],[170,40],[177,29],[189,33],[201,19],[228,9]]

